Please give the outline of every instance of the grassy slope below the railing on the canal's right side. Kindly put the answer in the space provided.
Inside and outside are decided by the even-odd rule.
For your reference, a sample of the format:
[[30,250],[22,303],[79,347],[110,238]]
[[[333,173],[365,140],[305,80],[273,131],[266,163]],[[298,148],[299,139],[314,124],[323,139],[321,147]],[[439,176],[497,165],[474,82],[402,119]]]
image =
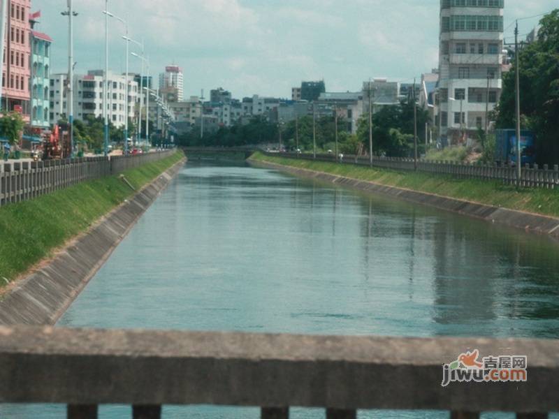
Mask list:
[[337,165],[321,161],[286,159],[279,156],[265,156],[259,152],[253,154],[250,159],[318,172],[328,172],[353,179],[370,180],[379,184],[436,193],[437,195],[505,207],[511,210],[559,216],[559,191],[557,189],[521,189],[516,191],[514,186],[505,186],[500,182],[456,179],[446,175],[398,172],[363,166]]

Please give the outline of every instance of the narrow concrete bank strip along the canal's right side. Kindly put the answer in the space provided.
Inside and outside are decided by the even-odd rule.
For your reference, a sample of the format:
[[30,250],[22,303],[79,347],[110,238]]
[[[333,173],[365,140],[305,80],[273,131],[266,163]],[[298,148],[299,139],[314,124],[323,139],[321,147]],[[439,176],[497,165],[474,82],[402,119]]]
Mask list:
[[293,175],[319,179],[324,182],[357,189],[358,191],[382,193],[383,195],[407,200],[408,202],[430,205],[431,207],[437,207],[441,210],[456,212],[458,214],[472,216],[477,219],[484,219],[485,221],[491,223],[498,223],[505,226],[522,228],[525,231],[530,231],[533,233],[548,234],[552,237],[555,237],[556,239],[559,239],[559,219],[551,216],[507,210],[506,208],[472,203],[470,201],[448,198],[445,196],[435,195],[433,193],[412,191],[410,189],[402,189],[395,186],[386,186],[383,184],[377,184],[375,182],[365,180],[331,175],[325,172],[316,172],[314,170],[293,168],[291,166],[284,166],[277,163],[252,161],[250,159],[248,161],[254,166],[282,170]]

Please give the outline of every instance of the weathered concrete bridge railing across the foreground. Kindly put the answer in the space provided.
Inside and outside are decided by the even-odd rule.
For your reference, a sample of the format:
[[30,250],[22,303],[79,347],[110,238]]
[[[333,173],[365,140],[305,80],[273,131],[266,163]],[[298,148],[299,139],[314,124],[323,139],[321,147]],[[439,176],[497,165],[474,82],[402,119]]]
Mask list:
[[[219,332],[0,327],[0,402],[68,405],[96,418],[99,404],[130,404],[160,418],[164,404],[482,411],[546,418],[559,411],[559,342],[524,339],[323,337]],[[442,365],[465,351],[525,355],[527,381],[450,383]],[[480,356],[481,356],[480,355]]]

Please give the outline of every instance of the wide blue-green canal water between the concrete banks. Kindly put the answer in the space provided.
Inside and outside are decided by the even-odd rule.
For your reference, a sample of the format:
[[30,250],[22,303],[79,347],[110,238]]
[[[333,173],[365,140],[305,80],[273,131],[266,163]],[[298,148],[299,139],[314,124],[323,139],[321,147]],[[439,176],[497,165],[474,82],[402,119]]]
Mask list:
[[[244,164],[196,162],[59,325],[557,339],[558,254],[548,237],[430,207]],[[64,416],[61,406],[3,410],[13,418]],[[129,418],[130,410],[103,407],[101,417]],[[164,408],[164,418],[258,416],[258,409]],[[359,417],[402,416],[448,417]],[[292,417],[324,411],[293,409]]]

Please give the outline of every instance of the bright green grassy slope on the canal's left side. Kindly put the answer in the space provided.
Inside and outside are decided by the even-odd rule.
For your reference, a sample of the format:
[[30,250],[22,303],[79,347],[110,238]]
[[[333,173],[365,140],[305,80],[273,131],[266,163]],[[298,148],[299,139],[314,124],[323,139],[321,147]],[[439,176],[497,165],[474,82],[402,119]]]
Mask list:
[[[126,170],[124,176],[140,189],[183,156],[177,152],[161,161]],[[15,279],[49,256],[52,249],[87,230],[132,194],[118,176],[110,176],[0,207],[0,287],[6,279]]]

